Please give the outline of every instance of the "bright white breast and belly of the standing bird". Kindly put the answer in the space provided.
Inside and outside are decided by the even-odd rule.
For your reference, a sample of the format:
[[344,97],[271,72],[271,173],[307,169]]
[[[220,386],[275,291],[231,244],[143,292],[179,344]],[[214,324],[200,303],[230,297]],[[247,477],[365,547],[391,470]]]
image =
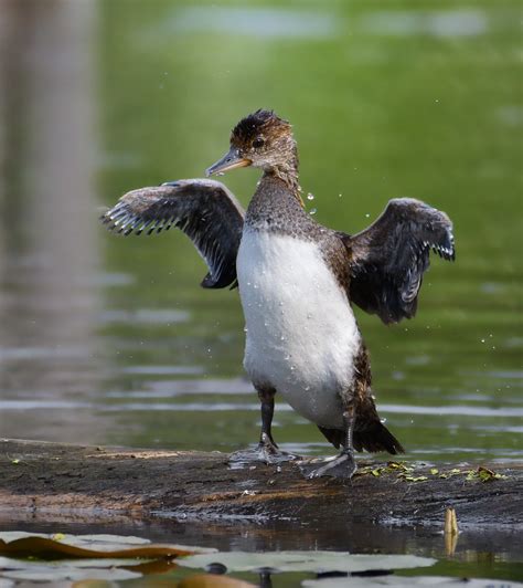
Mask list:
[[342,428],[360,332],[318,245],[246,229],[237,258],[247,340],[245,369],[300,414]]

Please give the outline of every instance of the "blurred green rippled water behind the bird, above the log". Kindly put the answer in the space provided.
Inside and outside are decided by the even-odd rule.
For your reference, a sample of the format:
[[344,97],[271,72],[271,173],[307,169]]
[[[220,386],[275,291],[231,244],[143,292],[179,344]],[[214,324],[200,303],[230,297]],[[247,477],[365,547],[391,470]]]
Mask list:
[[[116,238],[97,207],[202,177],[234,124],[270,107],[293,125],[319,222],[356,232],[403,196],[455,222],[457,261],[434,260],[415,319],[356,311],[406,459],[521,459],[519,2],[38,4],[2,57],[3,437],[256,441],[237,292],[198,286],[184,235]],[[257,179],[223,178],[244,206]],[[275,421],[284,449],[332,453],[284,403]]]

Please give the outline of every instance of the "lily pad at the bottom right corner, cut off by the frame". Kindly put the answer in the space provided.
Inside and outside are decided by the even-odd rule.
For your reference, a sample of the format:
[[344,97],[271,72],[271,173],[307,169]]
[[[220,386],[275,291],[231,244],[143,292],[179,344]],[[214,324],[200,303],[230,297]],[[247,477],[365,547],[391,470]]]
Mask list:
[[[435,588],[485,588],[485,586],[502,586],[502,580],[487,580],[477,578],[447,578],[441,576],[377,576],[373,578],[325,578],[318,580],[303,580],[303,588],[378,588],[380,586],[420,586]],[[510,581],[510,588],[521,588],[522,584]]]

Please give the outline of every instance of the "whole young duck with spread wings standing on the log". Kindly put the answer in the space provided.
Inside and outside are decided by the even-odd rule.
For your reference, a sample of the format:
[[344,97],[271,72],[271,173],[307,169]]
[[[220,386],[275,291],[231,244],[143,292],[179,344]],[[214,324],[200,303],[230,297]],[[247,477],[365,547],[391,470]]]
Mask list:
[[174,224],[207,262],[204,286],[238,280],[245,367],[262,401],[264,454],[278,453],[270,424],[280,392],[342,447],[337,460],[311,475],[350,476],[353,449],[403,451],[377,416],[351,302],[384,323],[414,316],[430,251],[455,258],[452,223],[424,202],[395,199],[355,235],[322,227],[303,209],[291,126],[271,111],[242,119],[231,150],[207,175],[246,165],[264,174],[245,217],[220,182],[184,180],[125,195],[104,222],[124,234],[140,233],[152,221],[152,230]]

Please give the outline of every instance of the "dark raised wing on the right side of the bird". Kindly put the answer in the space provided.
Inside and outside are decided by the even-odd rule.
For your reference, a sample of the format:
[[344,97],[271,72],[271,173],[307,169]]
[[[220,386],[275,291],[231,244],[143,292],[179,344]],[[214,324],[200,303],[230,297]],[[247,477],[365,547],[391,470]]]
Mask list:
[[352,255],[352,302],[386,324],[416,314],[430,250],[455,259],[450,219],[412,198],[391,200],[371,227],[343,241]]

